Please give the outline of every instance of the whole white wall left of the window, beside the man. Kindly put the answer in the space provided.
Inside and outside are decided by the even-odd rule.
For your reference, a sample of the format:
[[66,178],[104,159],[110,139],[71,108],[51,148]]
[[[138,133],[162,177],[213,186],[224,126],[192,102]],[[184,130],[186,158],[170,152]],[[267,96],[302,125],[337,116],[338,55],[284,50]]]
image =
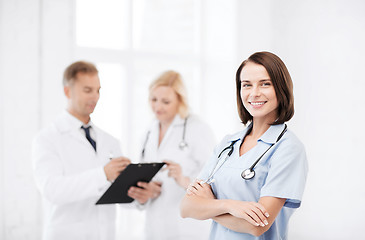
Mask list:
[[31,139],[64,105],[61,79],[72,39],[65,30],[68,3],[0,1],[0,239],[40,239]]

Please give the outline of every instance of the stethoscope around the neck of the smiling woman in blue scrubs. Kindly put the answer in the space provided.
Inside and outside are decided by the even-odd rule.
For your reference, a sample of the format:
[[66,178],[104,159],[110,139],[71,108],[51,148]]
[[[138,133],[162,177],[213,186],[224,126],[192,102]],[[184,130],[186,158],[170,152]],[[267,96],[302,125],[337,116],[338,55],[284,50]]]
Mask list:
[[[251,131],[252,128],[249,130]],[[276,142],[275,143],[272,143],[270,145],[270,147],[268,149],[266,149],[266,151],[247,169],[243,170],[242,173],[241,173],[241,177],[245,180],[250,180],[252,179],[254,176],[255,176],[255,170],[254,168],[256,167],[257,163],[261,160],[261,158],[265,155],[265,153],[267,153],[267,151],[270,150],[270,148],[272,148],[272,146],[274,146],[277,142],[279,142],[279,140],[282,138],[282,136],[284,135],[284,133],[286,132],[287,130],[287,126],[285,124],[285,127],[284,127],[284,130],[280,133],[280,135],[278,136],[278,138],[276,139]],[[205,181],[206,183],[210,184],[212,182],[214,182],[214,179],[213,179],[213,176],[214,174],[222,167],[222,165],[227,161],[227,159],[232,155],[233,151],[234,151],[234,144],[236,142],[238,142],[239,140],[241,140],[241,138],[239,139],[236,139],[236,140],[233,140],[231,141],[231,144],[224,148],[218,155],[218,161],[217,163],[215,164],[215,167],[213,168],[213,171],[211,172],[211,174],[209,175],[208,179]],[[218,166],[218,163],[220,162],[220,158],[221,158],[221,155],[226,151],[226,150],[229,150],[226,158],[223,160],[223,162]]]

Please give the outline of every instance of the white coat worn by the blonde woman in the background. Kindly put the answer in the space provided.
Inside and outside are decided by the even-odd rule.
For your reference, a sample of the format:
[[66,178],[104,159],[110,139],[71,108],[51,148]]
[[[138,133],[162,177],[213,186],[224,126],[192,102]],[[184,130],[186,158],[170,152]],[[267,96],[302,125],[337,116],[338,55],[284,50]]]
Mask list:
[[[160,146],[159,122],[156,120],[151,128],[145,146],[143,162],[162,162],[170,160],[181,165],[184,176],[194,180],[210,159],[216,144],[210,127],[196,116],[190,116],[186,124],[185,141],[188,147],[179,148],[184,130],[184,119],[176,115],[167,130]],[[153,181],[161,181],[161,194],[149,201],[146,208],[147,240],[204,240],[208,239],[211,221],[183,219],[180,216],[180,202],[185,189],[168,177],[168,171],[160,170]]]

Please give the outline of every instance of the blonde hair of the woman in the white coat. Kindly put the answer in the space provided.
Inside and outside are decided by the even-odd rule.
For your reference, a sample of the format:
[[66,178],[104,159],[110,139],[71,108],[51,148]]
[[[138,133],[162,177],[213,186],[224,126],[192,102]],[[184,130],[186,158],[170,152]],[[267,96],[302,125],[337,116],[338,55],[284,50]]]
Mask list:
[[175,71],[166,71],[162,73],[156,80],[154,80],[149,87],[149,94],[151,97],[152,91],[157,87],[171,87],[179,100],[178,113],[181,118],[186,118],[189,114],[189,106],[187,101],[186,88],[182,81],[181,75]]

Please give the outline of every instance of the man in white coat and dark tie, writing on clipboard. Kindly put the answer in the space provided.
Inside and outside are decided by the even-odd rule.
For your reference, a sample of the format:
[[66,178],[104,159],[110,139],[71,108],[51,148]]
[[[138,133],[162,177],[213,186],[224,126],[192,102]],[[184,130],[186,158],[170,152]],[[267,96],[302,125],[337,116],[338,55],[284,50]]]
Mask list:
[[71,64],[63,86],[67,111],[33,142],[34,175],[44,200],[43,239],[112,240],[116,205],[95,202],[130,161],[119,157],[119,142],[90,121],[99,100],[96,67]]

